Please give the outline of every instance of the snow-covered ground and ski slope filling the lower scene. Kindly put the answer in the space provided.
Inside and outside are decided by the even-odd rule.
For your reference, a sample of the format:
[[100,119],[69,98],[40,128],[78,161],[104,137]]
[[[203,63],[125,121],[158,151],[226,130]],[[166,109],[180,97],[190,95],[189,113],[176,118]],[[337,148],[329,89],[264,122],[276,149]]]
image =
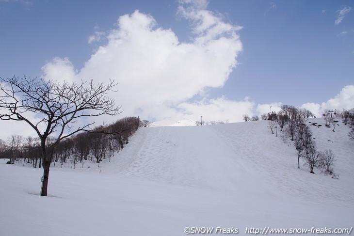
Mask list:
[[[322,119],[311,119],[322,124]],[[267,121],[141,128],[100,164],[42,169],[0,162],[0,235],[182,236],[185,227],[351,228],[354,142],[350,128],[311,126],[332,149],[339,179],[297,168],[294,147]],[[280,134],[278,130],[278,134]],[[68,165],[69,166],[69,165]]]

